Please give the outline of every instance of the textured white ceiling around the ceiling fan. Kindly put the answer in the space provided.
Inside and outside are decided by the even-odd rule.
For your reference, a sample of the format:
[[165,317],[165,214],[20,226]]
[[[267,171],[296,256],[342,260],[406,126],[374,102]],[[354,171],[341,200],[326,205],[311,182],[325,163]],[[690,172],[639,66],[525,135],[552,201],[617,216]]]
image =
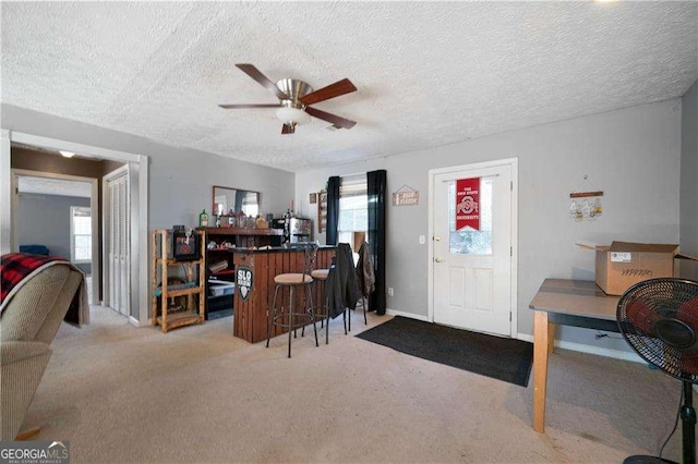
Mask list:
[[[5,103],[289,171],[681,96],[690,2],[2,2]],[[281,135],[238,70],[358,91]]]

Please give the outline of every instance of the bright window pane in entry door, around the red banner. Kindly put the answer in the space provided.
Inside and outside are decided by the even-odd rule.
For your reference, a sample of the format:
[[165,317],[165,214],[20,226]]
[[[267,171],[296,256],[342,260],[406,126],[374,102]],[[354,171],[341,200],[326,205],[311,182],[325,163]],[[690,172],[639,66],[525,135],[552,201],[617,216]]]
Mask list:
[[456,182],[448,184],[448,230],[452,254],[492,254],[492,183],[493,178],[480,179],[480,230],[465,228],[456,231]]

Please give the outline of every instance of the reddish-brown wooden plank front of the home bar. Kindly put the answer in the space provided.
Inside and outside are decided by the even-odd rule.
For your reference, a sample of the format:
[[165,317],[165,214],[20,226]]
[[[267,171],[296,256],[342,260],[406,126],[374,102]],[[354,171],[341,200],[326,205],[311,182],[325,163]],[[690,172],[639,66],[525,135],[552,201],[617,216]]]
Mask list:
[[[280,273],[303,271],[303,251],[293,248],[243,249],[234,248],[233,264],[236,272],[241,268],[252,272],[252,288],[243,297],[241,285],[236,284],[233,298],[234,316],[232,318],[232,334],[251,343],[266,340],[268,315],[274,303],[274,277]],[[315,269],[328,269],[335,247],[321,247],[317,251]],[[237,280],[237,279],[236,279]],[[322,285],[313,284],[313,302],[315,305],[323,298]],[[301,312],[304,304],[303,291],[296,293],[294,312]],[[277,308],[288,308],[288,289],[279,290]],[[274,327],[272,337],[286,332],[281,327]]]

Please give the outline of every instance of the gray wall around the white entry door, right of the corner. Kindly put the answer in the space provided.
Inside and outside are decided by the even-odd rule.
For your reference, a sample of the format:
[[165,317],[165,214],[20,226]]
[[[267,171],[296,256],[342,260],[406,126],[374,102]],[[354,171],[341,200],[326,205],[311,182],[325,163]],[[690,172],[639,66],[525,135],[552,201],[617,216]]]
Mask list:
[[[297,173],[296,202],[316,219],[309,193],[329,175],[386,169],[388,194],[408,184],[420,192],[417,206],[388,206],[388,308],[426,316],[430,169],[517,157],[519,160],[518,330],[532,333],[528,304],[543,279],[593,280],[594,255],[575,242],[613,240],[677,243],[681,105],[674,99],[430,150],[376,158]],[[585,175],[604,191],[597,221],[568,218],[569,193]],[[582,184],[583,186],[583,184]],[[389,202],[389,197],[388,197]],[[312,205],[313,207],[315,205]],[[311,211],[311,212],[306,212]],[[564,328],[569,342],[627,351],[623,340],[600,340],[594,331]]]

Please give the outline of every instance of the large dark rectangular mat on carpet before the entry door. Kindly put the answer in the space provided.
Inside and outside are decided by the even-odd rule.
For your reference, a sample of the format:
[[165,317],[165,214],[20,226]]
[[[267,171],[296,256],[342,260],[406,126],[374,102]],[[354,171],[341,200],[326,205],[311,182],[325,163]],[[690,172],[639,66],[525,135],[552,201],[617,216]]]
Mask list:
[[357,335],[412,356],[528,386],[533,344],[395,316]]

